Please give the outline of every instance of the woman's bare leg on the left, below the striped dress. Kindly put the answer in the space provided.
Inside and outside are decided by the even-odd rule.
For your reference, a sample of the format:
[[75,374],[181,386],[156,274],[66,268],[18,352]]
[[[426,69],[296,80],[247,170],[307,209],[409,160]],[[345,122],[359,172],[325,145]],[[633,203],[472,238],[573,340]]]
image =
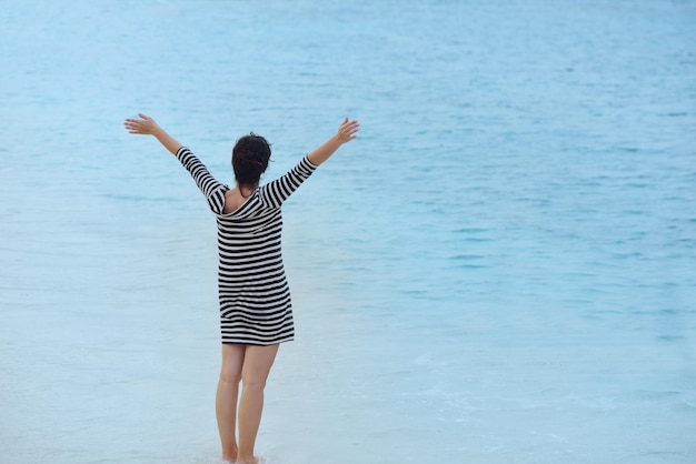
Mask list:
[[245,345],[222,344],[222,367],[215,400],[215,412],[218,417],[218,431],[222,443],[222,458],[237,461],[237,438],[235,423],[237,421],[237,399],[239,381],[245,362]]

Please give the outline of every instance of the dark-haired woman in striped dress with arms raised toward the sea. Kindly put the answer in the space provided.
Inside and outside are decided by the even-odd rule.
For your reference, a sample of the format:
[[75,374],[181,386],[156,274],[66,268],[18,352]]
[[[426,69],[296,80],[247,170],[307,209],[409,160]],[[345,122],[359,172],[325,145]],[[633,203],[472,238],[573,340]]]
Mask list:
[[[342,145],[357,137],[357,121],[344,120],[338,132],[285,175],[259,186],[270,147],[250,133],[232,150],[236,184],[218,182],[191,151],[152,118],[127,119],[130,133],[155,135],[189,171],[218,223],[218,294],[222,367],[216,414],[222,458],[255,464],[253,445],[264,408],[264,387],[278,346],[292,340],[290,291],[280,252],[282,202]],[[242,383],[241,397],[238,392]],[[236,421],[237,420],[237,421]],[[236,426],[239,426],[239,442]],[[239,444],[238,444],[239,443]]]

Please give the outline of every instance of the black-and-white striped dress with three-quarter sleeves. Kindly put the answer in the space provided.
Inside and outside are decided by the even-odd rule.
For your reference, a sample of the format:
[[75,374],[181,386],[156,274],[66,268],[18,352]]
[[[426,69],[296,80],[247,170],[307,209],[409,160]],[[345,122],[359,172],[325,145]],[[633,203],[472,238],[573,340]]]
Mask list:
[[282,202],[317,169],[307,157],[286,174],[257,188],[225,214],[229,186],[218,182],[191,151],[177,158],[208,200],[218,223],[218,294],[222,343],[271,345],[295,336],[290,289],[282,268]]

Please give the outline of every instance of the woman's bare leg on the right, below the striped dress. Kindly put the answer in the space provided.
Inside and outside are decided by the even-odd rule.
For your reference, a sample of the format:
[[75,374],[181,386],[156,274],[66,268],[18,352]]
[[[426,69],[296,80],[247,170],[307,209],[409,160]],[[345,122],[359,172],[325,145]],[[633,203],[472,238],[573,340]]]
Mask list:
[[237,464],[256,464],[253,445],[264,411],[264,387],[276,360],[278,345],[247,346],[241,371],[241,400],[239,401],[239,454]]

